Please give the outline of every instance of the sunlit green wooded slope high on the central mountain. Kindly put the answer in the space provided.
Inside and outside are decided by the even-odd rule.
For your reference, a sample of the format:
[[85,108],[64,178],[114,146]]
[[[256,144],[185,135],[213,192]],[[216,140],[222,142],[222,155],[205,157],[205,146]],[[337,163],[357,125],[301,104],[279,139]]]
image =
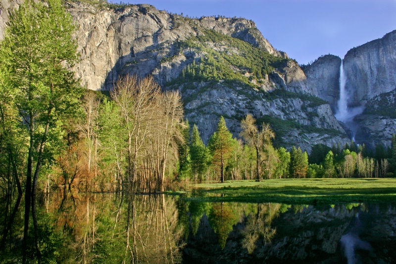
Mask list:
[[[233,38],[214,30],[199,29],[200,34],[176,44],[179,53],[183,49],[195,49],[203,53],[200,59],[194,59],[182,74],[167,85],[184,82],[233,80],[245,83],[251,87],[256,85],[252,79],[262,79],[274,68],[286,63],[287,59],[275,57],[263,49],[257,48],[245,41]],[[227,48],[216,51],[212,45],[222,44]],[[170,61],[174,56],[168,56],[161,61]]]

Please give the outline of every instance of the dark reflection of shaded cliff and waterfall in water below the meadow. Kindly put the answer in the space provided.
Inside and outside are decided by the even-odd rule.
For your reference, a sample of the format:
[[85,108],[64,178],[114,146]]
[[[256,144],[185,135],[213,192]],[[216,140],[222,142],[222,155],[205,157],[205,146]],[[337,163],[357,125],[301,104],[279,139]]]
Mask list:
[[[244,206],[232,207],[243,211]],[[233,225],[223,249],[216,229],[211,227],[210,216],[203,213],[197,233],[190,233],[183,249],[184,263],[396,261],[395,205],[291,206],[286,211],[276,204],[259,206],[266,212],[238,215],[236,210],[240,220]],[[257,221],[259,218],[262,220]],[[259,225],[257,231],[253,231],[252,219]]]

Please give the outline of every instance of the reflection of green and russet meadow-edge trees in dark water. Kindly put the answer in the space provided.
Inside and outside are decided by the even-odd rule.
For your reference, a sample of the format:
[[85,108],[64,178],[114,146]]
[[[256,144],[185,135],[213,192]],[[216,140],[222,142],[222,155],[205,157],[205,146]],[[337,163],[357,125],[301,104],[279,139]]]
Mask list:
[[[280,213],[287,211],[290,206],[272,203],[200,203],[188,201],[186,205],[180,205],[179,208],[189,215],[188,220],[183,217],[180,219],[191,228],[191,236],[185,236],[186,238],[189,237],[188,240],[191,243],[187,247],[199,248],[204,245],[205,240],[211,239],[210,231],[207,229],[210,228],[217,236],[220,249],[225,250],[225,252],[233,252],[230,254],[234,254],[235,250],[243,249],[241,253],[246,250],[246,254],[252,254],[259,245],[271,242],[276,234],[276,228],[271,226],[273,219],[278,217]],[[202,218],[205,214],[210,227],[205,224],[206,218]],[[230,240],[229,244],[228,240]],[[213,242],[210,243],[213,244]],[[236,243],[239,245],[238,249],[234,248]],[[219,249],[216,248],[215,245],[207,248],[204,245],[203,251],[208,250],[209,255],[216,255],[216,251]],[[188,255],[191,253],[190,250],[187,250],[187,252],[189,252]],[[189,255],[189,257],[193,257],[193,255]]]

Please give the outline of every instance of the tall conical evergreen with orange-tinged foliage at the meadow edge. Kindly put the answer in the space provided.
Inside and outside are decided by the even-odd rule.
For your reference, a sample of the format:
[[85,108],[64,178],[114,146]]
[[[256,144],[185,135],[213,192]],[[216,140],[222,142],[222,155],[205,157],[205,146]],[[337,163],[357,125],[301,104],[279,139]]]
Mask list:
[[220,180],[224,182],[224,166],[232,155],[234,144],[223,116],[220,117],[216,132],[209,139],[208,147],[212,153],[212,162],[220,167]]

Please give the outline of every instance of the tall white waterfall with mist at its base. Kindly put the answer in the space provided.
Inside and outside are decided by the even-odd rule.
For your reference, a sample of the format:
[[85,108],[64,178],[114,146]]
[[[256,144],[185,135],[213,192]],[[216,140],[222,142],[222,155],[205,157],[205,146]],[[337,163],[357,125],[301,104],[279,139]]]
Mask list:
[[347,76],[344,71],[344,62],[341,60],[340,66],[340,99],[337,102],[337,112],[335,117],[337,120],[345,123],[347,127],[352,131],[352,140],[354,141],[354,136],[356,133],[356,125],[353,123],[353,117],[357,114],[363,112],[363,106],[358,107],[348,107],[348,99],[350,95],[346,90]]

